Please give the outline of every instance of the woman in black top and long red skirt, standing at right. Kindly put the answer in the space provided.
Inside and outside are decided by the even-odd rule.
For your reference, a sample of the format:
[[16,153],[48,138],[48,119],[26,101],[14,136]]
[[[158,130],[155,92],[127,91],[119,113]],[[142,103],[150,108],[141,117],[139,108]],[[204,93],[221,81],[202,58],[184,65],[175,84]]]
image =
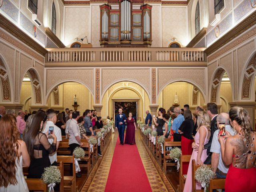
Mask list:
[[[192,120],[192,113],[189,109],[184,111],[184,118],[185,120],[178,129],[178,132],[181,134],[181,150],[183,155],[191,155],[192,143],[194,142],[192,137],[194,121]],[[188,172],[188,162],[184,162],[182,166],[182,174],[186,175]]]

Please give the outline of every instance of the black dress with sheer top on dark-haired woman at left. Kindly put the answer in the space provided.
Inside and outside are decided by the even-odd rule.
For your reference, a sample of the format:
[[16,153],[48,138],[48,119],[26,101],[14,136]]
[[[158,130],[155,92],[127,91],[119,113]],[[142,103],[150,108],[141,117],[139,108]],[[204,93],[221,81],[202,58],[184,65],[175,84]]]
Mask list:
[[56,151],[56,144],[50,144],[46,134],[39,133],[38,140],[34,145],[34,158],[28,168],[28,178],[41,178],[44,168],[51,165],[49,154]]

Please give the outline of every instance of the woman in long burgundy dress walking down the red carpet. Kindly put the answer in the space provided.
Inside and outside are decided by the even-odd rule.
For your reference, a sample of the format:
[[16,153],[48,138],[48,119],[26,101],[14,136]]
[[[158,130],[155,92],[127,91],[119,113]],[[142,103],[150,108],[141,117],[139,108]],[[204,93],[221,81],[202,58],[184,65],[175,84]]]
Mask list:
[[137,130],[134,118],[132,118],[132,113],[129,113],[129,117],[127,118],[127,128],[125,134],[125,144],[135,144],[135,131]]

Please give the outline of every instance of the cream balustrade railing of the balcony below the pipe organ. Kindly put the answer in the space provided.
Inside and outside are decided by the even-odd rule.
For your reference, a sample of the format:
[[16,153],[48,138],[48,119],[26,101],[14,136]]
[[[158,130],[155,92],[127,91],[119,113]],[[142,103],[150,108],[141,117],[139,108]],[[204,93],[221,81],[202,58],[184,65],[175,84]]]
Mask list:
[[206,62],[204,48],[57,48],[46,63]]

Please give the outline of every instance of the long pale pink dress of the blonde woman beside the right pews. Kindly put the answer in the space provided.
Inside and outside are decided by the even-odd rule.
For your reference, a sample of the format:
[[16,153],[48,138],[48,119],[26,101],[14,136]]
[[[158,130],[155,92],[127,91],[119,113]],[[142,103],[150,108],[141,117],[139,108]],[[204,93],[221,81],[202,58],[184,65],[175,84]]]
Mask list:
[[[206,137],[204,139],[204,145],[205,145],[209,142],[209,140],[208,140],[208,130],[205,126],[204,126],[204,128],[207,131]],[[199,131],[196,133],[194,139],[195,139],[196,143],[199,143]],[[191,158],[190,158],[189,166],[188,166],[188,174],[187,174],[187,177],[186,177],[186,182],[185,182],[183,192],[192,192],[192,160],[193,159],[196,160],[197,154],[198,154],[198,152],[193,150]],[[204,162],[207,157],[208,157],[207,156],[207,150],[203,149],[202,155],[201,155],[201,161]],[[201,189],[200,183],[196,183],[196,189]]]

